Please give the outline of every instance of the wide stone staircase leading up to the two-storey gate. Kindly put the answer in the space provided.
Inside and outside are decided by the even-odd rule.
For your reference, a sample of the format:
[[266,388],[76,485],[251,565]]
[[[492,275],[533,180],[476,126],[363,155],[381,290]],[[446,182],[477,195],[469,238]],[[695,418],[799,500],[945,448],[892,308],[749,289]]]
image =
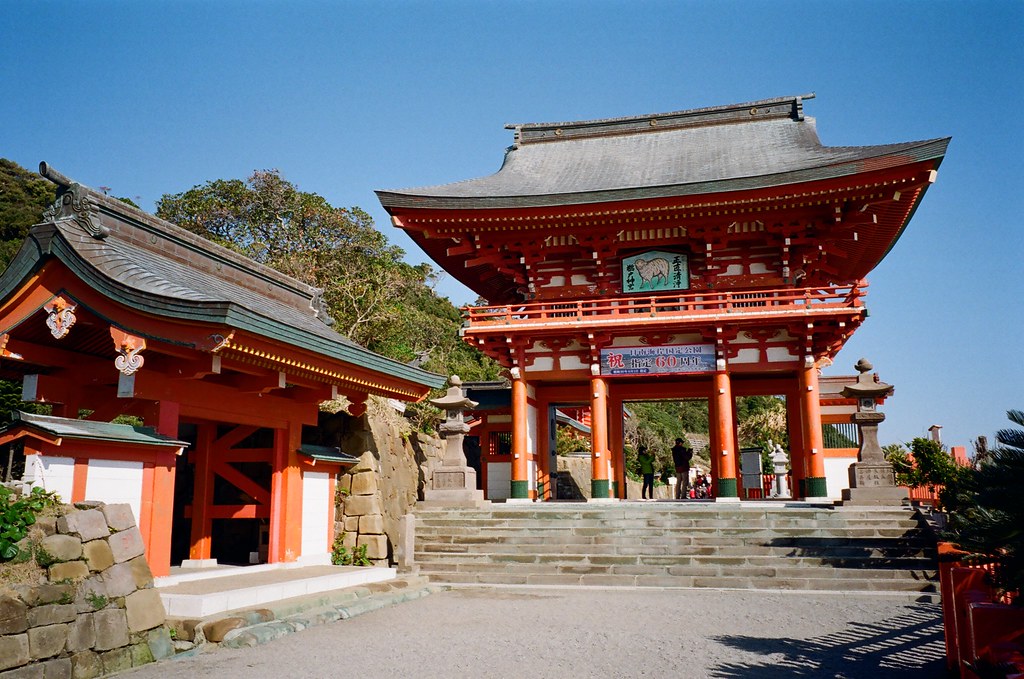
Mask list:
[[935,592],[935,538],[908,508],[802,503],[496,504],[418,509],[434,583]]

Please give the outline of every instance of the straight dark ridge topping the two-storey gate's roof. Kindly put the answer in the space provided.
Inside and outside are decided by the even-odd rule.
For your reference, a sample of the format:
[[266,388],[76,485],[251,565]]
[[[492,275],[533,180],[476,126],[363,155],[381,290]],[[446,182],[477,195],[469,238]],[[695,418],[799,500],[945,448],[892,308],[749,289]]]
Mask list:
[[515,131],[515,145],[519,146],[537,141],[564,141],[609,134],[656,132],[680,127],[734,124],[770,118],[792,118],[796,121],[802,121],[804,119],[803,101],[804,99],[813,99],[814,96],[814,93],[811,92],[742,103],[621,118],[599,118],[559,123],[510,123],[505,125],[505,128]]

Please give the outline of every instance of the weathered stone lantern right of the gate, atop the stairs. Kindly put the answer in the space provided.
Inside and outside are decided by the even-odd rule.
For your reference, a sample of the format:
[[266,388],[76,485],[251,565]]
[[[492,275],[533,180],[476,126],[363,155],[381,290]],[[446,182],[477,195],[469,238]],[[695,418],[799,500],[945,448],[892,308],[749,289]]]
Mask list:
[[896,485],[896,473],[879,445],[879,424],[886,416],[879,413],[879,398],[892,395],[893,386],[869,375],[873,368],[866,358],[855,366],[860,375],[854,384],[843,388],[843,395],[857,399],[857,412],[851,419],[860,430],[857,461],[850,465],[850,487],[843,491],[844,505],[901,505],[907,500],[906,489]]

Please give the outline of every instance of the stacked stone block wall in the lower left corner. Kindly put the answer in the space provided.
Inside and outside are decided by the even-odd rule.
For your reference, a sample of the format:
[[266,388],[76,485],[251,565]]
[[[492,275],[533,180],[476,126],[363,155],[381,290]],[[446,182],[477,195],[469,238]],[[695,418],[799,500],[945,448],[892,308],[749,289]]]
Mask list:
[[45,535],[46,582],[0,583],[0,679],[91,679],[173,655],[128,505],[77,505]]

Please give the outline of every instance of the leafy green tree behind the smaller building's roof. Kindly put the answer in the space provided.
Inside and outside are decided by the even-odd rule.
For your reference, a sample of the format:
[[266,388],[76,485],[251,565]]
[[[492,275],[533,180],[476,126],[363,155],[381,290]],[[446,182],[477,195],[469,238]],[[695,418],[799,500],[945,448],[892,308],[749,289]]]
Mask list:
[[[434,293],[431,267],[401,261],[358,208],[336,208],[259,170],[165,195],[157,215],[322,288],[335,329],[374,351],[466,381],[499,377],[500,366],[459,337],[462,316]],[[429,429],[435,410],[417,404],[409,415]]]

